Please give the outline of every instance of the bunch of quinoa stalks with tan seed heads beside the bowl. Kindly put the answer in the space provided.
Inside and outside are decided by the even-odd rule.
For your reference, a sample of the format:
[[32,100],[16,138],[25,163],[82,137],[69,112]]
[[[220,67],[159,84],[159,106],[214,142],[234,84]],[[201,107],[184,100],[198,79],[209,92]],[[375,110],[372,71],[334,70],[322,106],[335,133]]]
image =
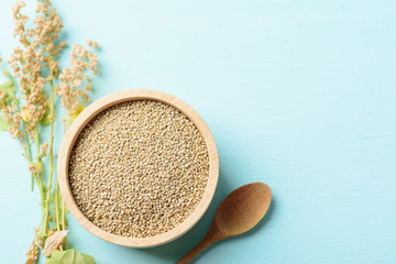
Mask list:
[[[63,29],[59,13],[50,0],[37,0],[35,18],[30,21],[21,12],[24,7],[25,3],[19,1],[12,9],[13,36],[19,45],[6,64],[0,58],[6,78],[6,82],[0,85],[0,130],[9,131],[21,143],[32,189],[36,185],[40,191],[42,220],[34,229],[25,263],[35,263],[40,251],[48,256],[47,263],[63,263],[63,257],[70,257],[70,254],[84,263],[95,263],[91,256],[67,246],[67,208],[54,176],[54,124],[57,120],[56,96],[61,97],[65,109],[65,127],[89,102],[87,92],[92,89],[92,77],[99,72],[97,55],[92,53],[98,44],[89,41],[88,50],[74,45],[70,66],[61,70],[58,57],[67,44],[58,41]],[[29,22],[32,22],[32,28],[28,26]],[[44,130],[50,130],[48,139],[42,135]]]

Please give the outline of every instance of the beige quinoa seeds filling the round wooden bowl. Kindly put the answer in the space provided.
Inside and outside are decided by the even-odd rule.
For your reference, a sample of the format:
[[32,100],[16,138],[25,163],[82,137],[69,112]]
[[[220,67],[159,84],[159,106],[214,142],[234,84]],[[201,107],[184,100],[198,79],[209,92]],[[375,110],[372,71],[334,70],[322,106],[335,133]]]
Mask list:
[[82,213],[122,237],[148,238],[185,221],[209,177],[208,150],[194,123],[152,100],[106,109],[79,134],[69,182]]

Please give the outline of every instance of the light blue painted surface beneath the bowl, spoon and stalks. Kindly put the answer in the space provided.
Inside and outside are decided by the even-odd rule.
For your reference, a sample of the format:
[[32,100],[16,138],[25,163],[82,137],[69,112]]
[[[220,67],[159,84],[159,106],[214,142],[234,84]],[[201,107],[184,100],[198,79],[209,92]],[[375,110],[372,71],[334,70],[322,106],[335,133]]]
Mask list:
[[[2,55],[12,3],[1,1]],[[394,0],[54,3],[69,44],[101,44],[92,99],[130,88],[183,99],[211,129],[221,164],[208,212],[175,242],[122,248],[69,216],[72,246],[99,264],[175,262],[231,190],[262,180],[274,198],[265,220],[196,263],[396,263]],[[0,262],[22,263],[38,196],[18,143],[1,133],[0,144]]]

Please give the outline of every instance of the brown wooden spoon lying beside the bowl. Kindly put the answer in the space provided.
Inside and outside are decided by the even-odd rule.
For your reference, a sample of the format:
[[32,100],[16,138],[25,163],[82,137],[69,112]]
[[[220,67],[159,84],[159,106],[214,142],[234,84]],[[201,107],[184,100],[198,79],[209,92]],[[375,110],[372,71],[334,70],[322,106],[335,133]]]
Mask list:
[[271,196],[270,187],[263,183],[243,185],[233,190],[220,204],[205,238],[176,264],[189,263],[215,242],[251,230],[267,212]]

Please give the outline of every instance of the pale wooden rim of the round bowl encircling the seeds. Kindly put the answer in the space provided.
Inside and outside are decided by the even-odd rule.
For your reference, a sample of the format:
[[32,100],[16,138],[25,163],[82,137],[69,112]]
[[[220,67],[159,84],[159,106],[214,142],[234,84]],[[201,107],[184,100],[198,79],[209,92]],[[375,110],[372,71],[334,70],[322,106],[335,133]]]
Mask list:
[[[202,134],[202,138],[205,140],[205,143],[209,152],[209,179],[201,201],[198,204],[195,211],[183,223],[172,229],[170,231],[167,231],[166,233],[158,234],[155,237],[143,238],[143,239],[125,238],[109,233],[98,228],[81,212],[72,194],[69,178],[68,178],[68,164],[69,164],[69,156],[73,146],[79,133],[82,131],[82,129],[92,118],[95,118],[99,112],[103,111],[105,109],[112,107],[117,103],[133,101],[133,100],[145,100],[145,99],[161,101],[176,108],[182,113],[184,113],[190,121],[193,121],[194,124],[198,128],[198,130]],[[216,147],[213,136],[210,133],[208,125],[204,122],[201,117],[199,117],[199,114],[187,103],[164,92],[145,90],[145,89],[132,89],[132,90],[122,90],[106,96],[91,103],[77,117],[77,119],[72,123],[72,125],[69,127],[69,129],[67,130],[64,136],[59,151],[57,168],[58,168],[57,176],[58,176],[59,187],[64,200],[66,202],[66,206],[72,212],[72,215],[77,219],[77,221],[84,228],[86,228],[89,232],[97,235],[98,238],[113,244],[131,246],[131,248],[150,248],[150,246],[167,243],[180,237],[189,229],[191,229],[198,222],[198,220],[204,216],[205,211],[209,207],[210,201],[213,198],[216,186],[218,183],[219,157],[218,157],[218,151]]]

